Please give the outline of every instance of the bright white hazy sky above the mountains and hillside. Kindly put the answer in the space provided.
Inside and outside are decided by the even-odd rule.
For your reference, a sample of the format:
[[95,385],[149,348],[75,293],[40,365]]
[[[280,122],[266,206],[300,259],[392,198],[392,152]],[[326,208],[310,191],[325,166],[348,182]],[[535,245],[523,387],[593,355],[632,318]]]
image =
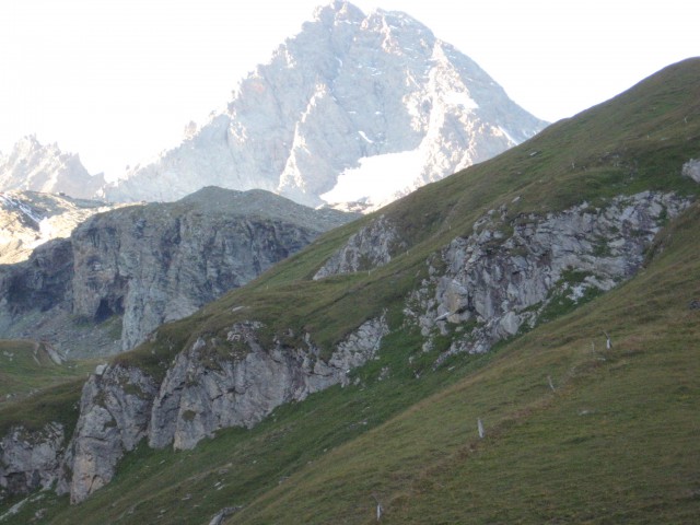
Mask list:
[[[3,0],[0,151],[36,133],[120,174],[222,108],[301,30],[316,0]],[[558,120],[700,56],[692,0],[357,0],[405,11],[476,60],[511,98]]]

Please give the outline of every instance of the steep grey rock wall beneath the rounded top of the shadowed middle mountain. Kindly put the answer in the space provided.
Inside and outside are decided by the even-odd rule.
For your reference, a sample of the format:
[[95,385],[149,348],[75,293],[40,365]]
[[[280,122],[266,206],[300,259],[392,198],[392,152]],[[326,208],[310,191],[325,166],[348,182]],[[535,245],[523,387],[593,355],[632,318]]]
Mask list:
[[128,350],[298,252],[318,234],[280,220],[199,213],[102,215],[73,235],[73,313],[122,315]]

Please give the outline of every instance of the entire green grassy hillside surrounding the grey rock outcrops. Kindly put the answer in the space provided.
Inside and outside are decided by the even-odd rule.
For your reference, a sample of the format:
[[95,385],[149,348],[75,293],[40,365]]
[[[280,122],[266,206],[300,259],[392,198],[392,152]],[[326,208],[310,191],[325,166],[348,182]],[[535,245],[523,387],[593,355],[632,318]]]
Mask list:
[[[21,499],[4,502],[0,523],[203,524],[231,508],[224,523],[361,524],[376,523],[377,502],[382,523],[695,523],[697,202],[668,221],[630,281],[573,312],[552,312],[553,320],[486,354],[433,366],[456,334],[423,352],[404,306],[427,277],[425,260],[471,233],[488,210],[508,205],[514,220],[646,189],[695,198],[700,186],[681,177],[680,167],[698,158],[700,59],[691,59],[329,232],[116,361],[162,377],[198,337],[224,336],[246,318],[262,320],[270,341],[301,342],[285,336],[291,328],[313,334],[330,352],[386,312],[390,334],[378,359],[353,372],[351,386],[282,406],[252,430],[220,431],[192,451],[142,443],[82,504],[45,491],[12,515],[3,513]],[[398,224],[405,252],[371,271],[311,279],[380,214]],[[611,335],[609,350],[604,331]],[[79,396],[70,392],[56,410],[70,412]],[[0,406],[0,427],[16,421],[24,406]]]

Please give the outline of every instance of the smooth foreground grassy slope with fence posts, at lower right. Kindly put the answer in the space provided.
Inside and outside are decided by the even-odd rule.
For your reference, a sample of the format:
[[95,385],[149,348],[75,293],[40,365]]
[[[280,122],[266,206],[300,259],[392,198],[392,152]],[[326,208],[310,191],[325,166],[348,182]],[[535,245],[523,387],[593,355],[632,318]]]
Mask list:
[[693,523],[699,226],[695,206],[633,281],[513,341],[231,523],[372,523],[373,494],[383,523]]

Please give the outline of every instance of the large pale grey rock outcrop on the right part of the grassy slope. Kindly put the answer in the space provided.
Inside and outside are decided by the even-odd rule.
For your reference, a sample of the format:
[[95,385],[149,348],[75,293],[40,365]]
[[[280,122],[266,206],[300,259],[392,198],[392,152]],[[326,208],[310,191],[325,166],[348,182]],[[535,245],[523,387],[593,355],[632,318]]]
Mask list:
[[432,261],[407,312],[428,337],[425,348],[434,330],[467,325],[446,355],[485,352],[534,326],[548,306],[576,303],[630,278],[663,222],[687,206],[674,194],[644,191],[545,217],[509,220],[505,207],[491,210]]

